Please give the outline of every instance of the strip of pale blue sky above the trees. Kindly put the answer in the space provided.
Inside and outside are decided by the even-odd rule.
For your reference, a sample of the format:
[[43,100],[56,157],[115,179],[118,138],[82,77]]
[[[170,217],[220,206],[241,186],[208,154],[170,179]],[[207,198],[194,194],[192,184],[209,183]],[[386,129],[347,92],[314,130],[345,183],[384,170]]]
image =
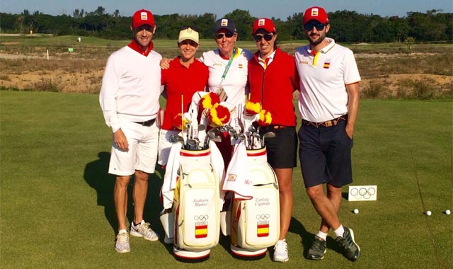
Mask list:
[[0,0],[0,12],[4,13],[21,13],[28,9],[30,13],[40,11],[50,15],[72,16],[76,8],[89,12],[96,10],[98,6],[103,6],[107,13],[118,9],[122,16],[132,16],[137,9],[147,8],[157,15],[214,13],[217,18],[234,9],[242,9],[249,11],[251,16],[275,17],[283,21],[294,13],[304,12],[310,6],[322,6],[328,12],[348,10],[361,14],[373,13],[382,17],[403,17],[411,11],[425,13],[432,9],[453,13],[452,0]]

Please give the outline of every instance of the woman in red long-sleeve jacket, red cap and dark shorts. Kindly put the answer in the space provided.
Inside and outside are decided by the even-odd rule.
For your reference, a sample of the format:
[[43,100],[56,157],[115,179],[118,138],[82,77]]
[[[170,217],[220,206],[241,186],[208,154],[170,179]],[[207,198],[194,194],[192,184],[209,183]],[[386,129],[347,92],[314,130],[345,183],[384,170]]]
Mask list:
[[250,102],[260,103],[272,118],[260,127],[260,135],[275,132],[265,139],[268,163],[277,176],[280,192],[280,238],[274,247],[274,261],[288,261],[285,236],[292,214],[292,168],[297,166],[296,115],[292,94],[299,89],[294,57],[277,47],[277,30],[268,18],[253,23],[253,38],[258,52],[248,62]]

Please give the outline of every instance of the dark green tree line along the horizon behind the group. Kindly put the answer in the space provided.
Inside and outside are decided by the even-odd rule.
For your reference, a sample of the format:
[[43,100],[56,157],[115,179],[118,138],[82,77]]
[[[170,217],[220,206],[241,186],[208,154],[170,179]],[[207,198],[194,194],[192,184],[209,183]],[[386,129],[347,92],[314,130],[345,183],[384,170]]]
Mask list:
[[[304,40],[302,28],[304,13],[294,13],[286,21],[272,18],[279,40]],[[236,9],[225,14],[236,24],[239,40],[252,40],[251,28],[255,17],[249,11]],[[408,12],[406,17],[374,14],[359,14],[356,11],[335,11],[328,13],[332,27],[328,34],[338,42],[440,42],[453,40],[453,13],[431,10],[426,13]],[[70,15],[51,16],[40,11],[21,14],[0,13],[1,33],[46,33],[53,35],[81,35],[125,40],[132,37],[131,16],[121,16],[119,10],[109,14],[98,6],[95,11],[75,9]],[[200,29],[200,38],[212,38],[213,13],[202,15],[154,15],[157,29],[156,39],[177,39],[182,25],[195,25]]]

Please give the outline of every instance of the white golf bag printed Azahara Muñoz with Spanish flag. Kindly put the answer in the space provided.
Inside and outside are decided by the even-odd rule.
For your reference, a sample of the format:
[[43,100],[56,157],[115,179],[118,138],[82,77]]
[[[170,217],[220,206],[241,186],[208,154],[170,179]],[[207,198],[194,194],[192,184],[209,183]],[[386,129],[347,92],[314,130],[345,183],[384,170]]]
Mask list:
[[210,149],[180,150],[174,191],[173,252],[178,258],[209,256],[219,243],[219,181],[210,164]]

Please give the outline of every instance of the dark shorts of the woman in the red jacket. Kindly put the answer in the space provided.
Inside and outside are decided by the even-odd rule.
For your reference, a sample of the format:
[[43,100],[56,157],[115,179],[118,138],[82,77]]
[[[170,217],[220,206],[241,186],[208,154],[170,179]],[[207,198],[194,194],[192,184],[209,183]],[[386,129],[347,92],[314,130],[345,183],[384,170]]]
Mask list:
[[275,132],[276,137],[266,138],[265,145],[268,163],[272,168],[294,168],[297,166],[297,133],[296,127],[274,128],[274,125],[261,127],[260,135]]

